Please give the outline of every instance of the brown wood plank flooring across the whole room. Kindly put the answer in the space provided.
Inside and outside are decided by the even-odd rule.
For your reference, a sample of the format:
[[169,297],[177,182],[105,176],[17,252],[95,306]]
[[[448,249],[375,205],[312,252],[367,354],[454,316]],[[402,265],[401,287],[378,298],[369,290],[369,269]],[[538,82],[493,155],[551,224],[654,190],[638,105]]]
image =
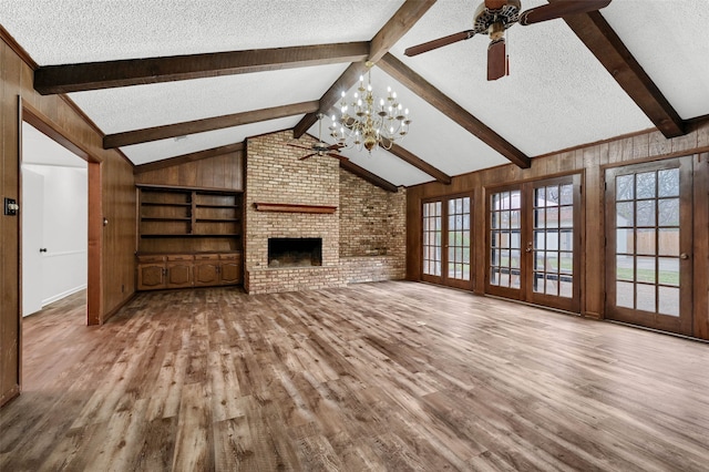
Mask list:
[[709,345],[424,284],[76,296],[24,320],[2,471],[707,471]]

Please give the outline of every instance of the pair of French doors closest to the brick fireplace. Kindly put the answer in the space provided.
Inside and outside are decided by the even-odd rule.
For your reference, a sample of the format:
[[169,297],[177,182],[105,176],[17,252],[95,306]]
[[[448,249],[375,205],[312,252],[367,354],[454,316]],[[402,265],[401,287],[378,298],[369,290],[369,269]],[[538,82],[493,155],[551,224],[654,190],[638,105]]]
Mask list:
[[472,288],[470,195],[425,201],[422,215],[422,279]]

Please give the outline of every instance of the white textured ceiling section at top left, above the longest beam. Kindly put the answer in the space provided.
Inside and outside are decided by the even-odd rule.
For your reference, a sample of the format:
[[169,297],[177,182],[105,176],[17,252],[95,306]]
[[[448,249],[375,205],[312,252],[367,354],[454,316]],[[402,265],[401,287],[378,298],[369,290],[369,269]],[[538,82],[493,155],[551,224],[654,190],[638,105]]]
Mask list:
[[49,65],[369,41],[402,3],[0,0],[0,23],[34,61]]

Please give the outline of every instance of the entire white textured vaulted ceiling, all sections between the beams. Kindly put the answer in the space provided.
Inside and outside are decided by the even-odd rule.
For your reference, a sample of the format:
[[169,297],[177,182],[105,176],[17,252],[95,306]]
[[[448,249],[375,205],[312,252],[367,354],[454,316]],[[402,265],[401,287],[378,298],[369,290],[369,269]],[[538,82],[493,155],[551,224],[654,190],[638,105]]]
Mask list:
[[[544,0],[522,0],[523,10]],[[41,65],[368,41],[403,0],[0,0],[0,23]],[[417,58],[403,50],[471,28],[476,1],[440,0],[392,49],[441,92],[530,156],[653,126],[562,20],[508,30],[511,75],[485,80],[487,37]],[[707,0],[613,0],[602,14],[680,116],[709,114]],[[289,69],[72,93],[106,133],[319,99],[347,64]],[[411,110],[401,145],[449,175],[507,161],[381,70]],[[135,164],[242,142],[292,127],[271,120],[125,146]],[[310,134],[317,136],[317,126]],[[346,150],[356,164],[397,185],[429,182],[378,150]]]

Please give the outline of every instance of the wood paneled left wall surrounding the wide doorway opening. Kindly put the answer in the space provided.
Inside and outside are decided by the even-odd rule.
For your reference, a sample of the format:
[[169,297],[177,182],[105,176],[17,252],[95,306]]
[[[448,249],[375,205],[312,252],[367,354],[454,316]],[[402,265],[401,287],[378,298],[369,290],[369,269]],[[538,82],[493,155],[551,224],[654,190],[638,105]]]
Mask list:
[[[97,314],[93,321],[103,322],[135,291],[133,252],[135,246],[135,187],[133,166],[120,153],[103,150],[103,135],[73,104],[60,95],[41,96],[33,86],[33,69],[21,48],[0,28],[0,194],[16,198],[20,205],[20,98],[33,114],[45,121],[81,151],[82,157],[97,162],[100,181],[94,189],[100,211],[90,216],[107,219],[97,227],[95,242],[101,245],[101,260],[91,260],[100,274]],[[21,209],[20,209],[21,211]],[[96,222],[90,220],[90,226]],[[89,236],[88,236],[89,237]],[[20,388],[20,216],[0,214],[0,404],[16,396]],[[100,361],[100,359],[96,359]]]

